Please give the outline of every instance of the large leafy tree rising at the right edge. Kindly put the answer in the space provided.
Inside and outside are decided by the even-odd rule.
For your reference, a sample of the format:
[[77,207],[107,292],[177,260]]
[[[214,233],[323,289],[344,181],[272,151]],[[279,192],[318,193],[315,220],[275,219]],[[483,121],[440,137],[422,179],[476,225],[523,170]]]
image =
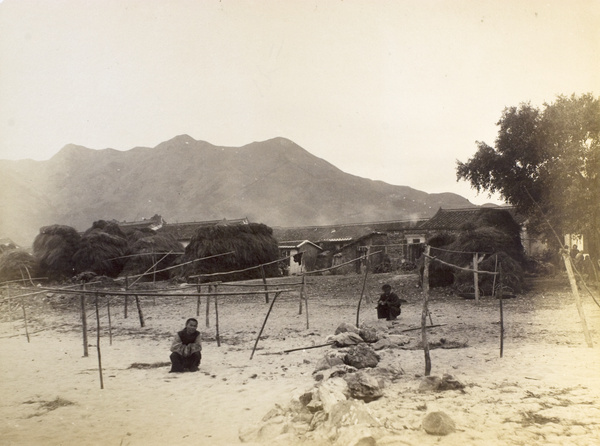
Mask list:
[[530,228],[556,245],[559,235],[585,234],[595,256],[600,240],[600,101],[591,94],[558,96],[542,110],[505,108],[495,147],[477,142],[457,180],[498,192],[530,218]]

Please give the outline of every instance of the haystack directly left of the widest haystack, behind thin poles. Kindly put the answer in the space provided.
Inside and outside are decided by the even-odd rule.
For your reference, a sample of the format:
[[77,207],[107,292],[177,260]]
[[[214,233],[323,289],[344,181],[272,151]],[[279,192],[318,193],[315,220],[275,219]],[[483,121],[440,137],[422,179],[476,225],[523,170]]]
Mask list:
[[123,274],[137,275],[159,271],[144,276],[142,280],[167,280],[171,277],[170,271],[161,270],[173,266],[182,255],[183,245],[175,236],[168,233],[157,234],[152,229],[144,229],[129,234],[128,240],[129,257]]

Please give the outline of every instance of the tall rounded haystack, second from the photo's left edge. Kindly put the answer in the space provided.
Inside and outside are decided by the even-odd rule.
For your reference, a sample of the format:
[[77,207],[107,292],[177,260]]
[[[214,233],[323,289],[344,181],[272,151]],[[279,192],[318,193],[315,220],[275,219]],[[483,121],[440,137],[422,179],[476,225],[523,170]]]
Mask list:
[[53,280],[73,276],[73,255],[80,240],[79,233],[70,226],[51,225],[40,228],[40,233],[33,241],[33,255],[38,262],[39,273]]

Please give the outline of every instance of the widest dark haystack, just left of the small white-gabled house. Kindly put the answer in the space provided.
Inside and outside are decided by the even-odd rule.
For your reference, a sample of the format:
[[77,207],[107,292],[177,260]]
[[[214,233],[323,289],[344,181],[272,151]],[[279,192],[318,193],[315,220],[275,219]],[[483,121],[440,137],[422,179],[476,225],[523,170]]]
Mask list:
[[[175,274],[189,277],[197,274],[238,271],[273,262],[279,257],[273,230],[261,223],[250,223],[198,229],[190,244],[185,248],[185,254],[181,257],[180,262],[186,263],[230,251],[233,253],[184,265],[181,270],[174,270]],[[277,263],[265,266],[264,271],[267,277],[279,275]],[[260,269],[253,268],[242,273],[204,278],[202,281],[234,281],[260,277]]]

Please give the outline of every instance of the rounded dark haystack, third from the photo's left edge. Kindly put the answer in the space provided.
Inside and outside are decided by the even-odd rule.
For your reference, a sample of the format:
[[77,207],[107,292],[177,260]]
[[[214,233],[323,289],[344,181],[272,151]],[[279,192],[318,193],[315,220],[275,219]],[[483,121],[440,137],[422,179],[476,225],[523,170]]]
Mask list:
[[129,253],[127,238],[116,224],[104,223],[95,222],[81,238],[73,254],[76,273],[117,277],[123,270]]

